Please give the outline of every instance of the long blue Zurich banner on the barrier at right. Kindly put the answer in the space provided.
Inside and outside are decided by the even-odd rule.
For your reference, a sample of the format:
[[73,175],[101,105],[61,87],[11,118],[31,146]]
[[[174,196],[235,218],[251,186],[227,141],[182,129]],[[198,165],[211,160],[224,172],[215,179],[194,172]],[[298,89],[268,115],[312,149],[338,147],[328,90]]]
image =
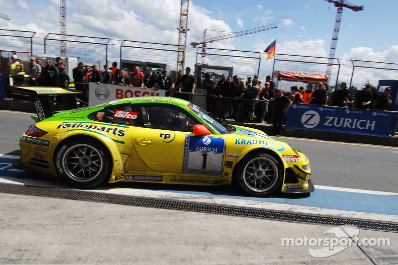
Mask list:
[[389,137],[397,113],[293,103],[286,128]]

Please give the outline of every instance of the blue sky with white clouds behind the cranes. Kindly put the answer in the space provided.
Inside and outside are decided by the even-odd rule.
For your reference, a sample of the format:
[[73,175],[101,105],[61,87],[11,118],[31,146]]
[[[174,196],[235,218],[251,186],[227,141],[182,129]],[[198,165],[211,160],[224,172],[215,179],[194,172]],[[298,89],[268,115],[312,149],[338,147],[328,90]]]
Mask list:
[[[181,0],[67,0],[67,34],[178,44]],[[335,57],[398,63],[397,0],[350,0],[344,8]],[[264,50],[276,40],[276,53],[328,57],[337,7],[326,0],[190,0],[187,44],[271,23],[275,29],[230,38],[207,47],[262,52],[260,77],[273,60]],[[59,0],[0,1],[0,29],[60,33]],[[40,34],[36,35],[40,37]],[[42,34],[44,37],[45,35]],[[187,51],[195,51],[188,45]],[[33,51],[35,52],[35,51]],[[110,50],[110,60],[119,50]],[[113,57],[113,58],[112,58]],[[186,61],[193,66],[195,61]]]

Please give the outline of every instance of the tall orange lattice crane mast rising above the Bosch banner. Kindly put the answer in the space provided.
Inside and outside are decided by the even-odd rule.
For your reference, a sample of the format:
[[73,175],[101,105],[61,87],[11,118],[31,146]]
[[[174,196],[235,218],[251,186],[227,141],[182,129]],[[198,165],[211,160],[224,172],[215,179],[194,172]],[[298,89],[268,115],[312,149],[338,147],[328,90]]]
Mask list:
[[178,48],[177,48],[177,72],[176,78],[178,77],[178,71],[184,69],[185,64],[185,45],[187,44],[187,32],[188,32],[188,6],[189,0],[181,0],[180,7],[180,26],[178,29]]

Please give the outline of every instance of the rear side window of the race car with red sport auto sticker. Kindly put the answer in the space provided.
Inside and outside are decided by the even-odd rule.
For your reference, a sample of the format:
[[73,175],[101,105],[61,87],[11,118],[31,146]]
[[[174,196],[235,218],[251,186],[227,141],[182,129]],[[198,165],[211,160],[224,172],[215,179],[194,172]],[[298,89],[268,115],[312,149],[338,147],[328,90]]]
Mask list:
[[138,112],[135,109],[136,107],[130,103],[113,105],[91,113],[89,118],[109,123],[139,126]]

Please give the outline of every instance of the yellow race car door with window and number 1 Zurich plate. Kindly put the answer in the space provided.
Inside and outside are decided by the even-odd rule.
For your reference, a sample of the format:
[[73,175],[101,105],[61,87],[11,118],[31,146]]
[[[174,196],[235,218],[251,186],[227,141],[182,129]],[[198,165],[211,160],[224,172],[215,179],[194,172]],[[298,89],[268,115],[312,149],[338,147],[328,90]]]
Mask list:
[[132,142],[150,170],[221,176],[222,138],[195,135],[192,130],[199,121],[178,106],[142,104],[139,112],[143,126],[133,132]]

